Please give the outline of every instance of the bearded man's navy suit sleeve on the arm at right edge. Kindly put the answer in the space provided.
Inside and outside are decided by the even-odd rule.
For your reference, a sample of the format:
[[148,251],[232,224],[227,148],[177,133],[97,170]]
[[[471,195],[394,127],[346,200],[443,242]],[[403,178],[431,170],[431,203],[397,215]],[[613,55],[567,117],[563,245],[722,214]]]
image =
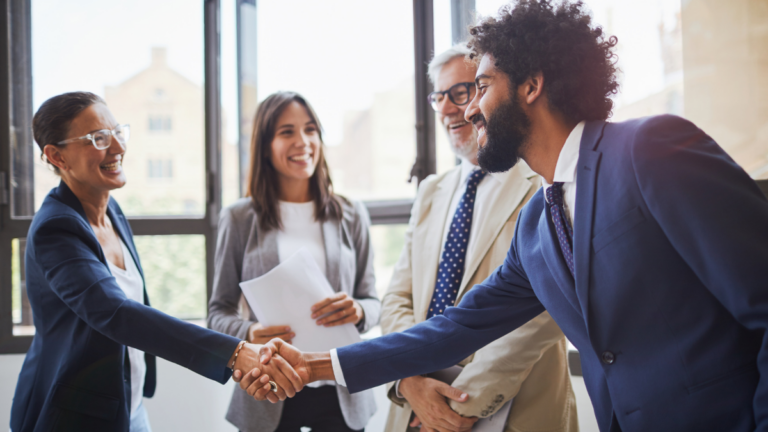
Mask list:
[[754,412],[757,429],[768,429],[768,201],[712,138],[677,117],[646,122],[632,160],[674,248],[733,317],[761,335]]

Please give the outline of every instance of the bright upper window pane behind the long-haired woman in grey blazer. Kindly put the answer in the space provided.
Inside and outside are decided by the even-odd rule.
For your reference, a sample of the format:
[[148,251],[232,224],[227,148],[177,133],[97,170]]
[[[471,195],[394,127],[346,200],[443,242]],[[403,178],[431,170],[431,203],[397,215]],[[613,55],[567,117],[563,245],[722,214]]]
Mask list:
[[414,196],[413,3],[264,0],[257,20],[259,98],[291,90],[314,106],[335,190]]

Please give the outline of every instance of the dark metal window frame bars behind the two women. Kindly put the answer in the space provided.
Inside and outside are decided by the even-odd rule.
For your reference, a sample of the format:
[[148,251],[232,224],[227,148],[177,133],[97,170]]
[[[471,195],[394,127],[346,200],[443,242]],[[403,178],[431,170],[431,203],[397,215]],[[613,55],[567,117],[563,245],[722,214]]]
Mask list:
[[[0,0],[5,19],[0,23],[0,82],[9,89],[0,95],[0,128],[9,131],[0,136],[0,354],[23,354],[29,349],[33,336],[13,335],[11,241],[26,238],[32,217],[14,217],[11,200],[10,173],[12,172],[10,131],[14,114],[26,117],[19,124],[31,124],[32,119],[32,77],[31,77],[31,1]],[[458,0],[451,0],[452,3]],[[206,249],[206,300],[213,289],[213,268],[219,212],[222,207],[221,148],[221,0],[201,0],[204,8],[204,122],[205,122],[205,213],[201,216],[140,216],[129,217],[128,221],[136,236],[144,235],[202,235]],[[474,4],[464,0],[462,5]],[[241,8],[256,7],[254,0],[236,0],[238,35],[238,107],[243,106],[243,79],[253,65],[246,65],[240,55],[242,36],[246,26],[254,22],[241,19]],[[427,65],[434,51],[433,1],[413,0],[414,65],[415,65],[415,107],[416,160],[411,169],[411,179],[421,182],[436,172],[435,113],[427,104],[431,83],[427,76]],[[252,32],[250,34],[255,34]],[[20,39],[22,37],[24,39]],[[20,43],[23,41],[24,43]],[[23,61],[18,61],[23,60]],[[20,85],[13,85],[20,84]],[[21,93],[21,94],[18,94]],[[21,103],[19,103],[21,102]],[[12,111],[13,107],[13,111]],[[20,113],[20,114],[19,114]],[[242,119],[242,116],[239,116]],[[241,125],[242,126],[242,125]],[[240,128],[239,155],[248,155],[250,132]],[[31,140],[31,130],[27,130]],[[31,149],[31,147],[30,147]],[[32,160],[33,156],[28,159]],[[247,163],[239,161],[241,184],[245,180]],[[244,188],[241,189],[241,192]],[[241,193],[242,195],[242,193]],[[32,195],[30,195],[32,196]],[[378,224],[404,224],[410,219],[413,199],[366,201],[371,222]]]

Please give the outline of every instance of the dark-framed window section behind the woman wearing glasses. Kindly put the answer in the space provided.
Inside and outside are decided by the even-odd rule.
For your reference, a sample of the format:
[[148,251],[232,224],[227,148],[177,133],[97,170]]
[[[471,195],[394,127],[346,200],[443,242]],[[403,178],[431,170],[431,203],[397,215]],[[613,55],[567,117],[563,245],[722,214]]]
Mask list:
[[9,123],[0,139],[0,204],[9,188],[9,205],[0,205],[0,352],[23,352],[34,334],[24,237],[60,181],[32,139],[32,114],[68,91],[99,95],[119,123],[131,125],[128,183],[112,196],[136,235],[153,306],[204,319],[221,196],[218,2],[3,5],[9,15],[0,50],[8,61],[0,67],[11,92],[2,101]]

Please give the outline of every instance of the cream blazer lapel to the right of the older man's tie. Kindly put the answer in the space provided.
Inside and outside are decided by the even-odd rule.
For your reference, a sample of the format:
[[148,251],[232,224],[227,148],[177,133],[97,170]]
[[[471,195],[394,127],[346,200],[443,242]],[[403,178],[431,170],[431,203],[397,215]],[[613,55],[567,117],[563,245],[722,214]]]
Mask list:
[[[472,280],[478,266],[485,258],[488,250],[491,248],[496,237],[499,235],[504,224],[515,212],[515,209],[525,198],[525,195],[533,186],[528,179],[525,171],[530,171],[527,165],[518,163],[506,175],[501,187],[496,188],[491,195],[484,201],[490,206],[485,207],[488,210],[483,211],[483,220],[473,220],[472,223],[481,223],[482,229],[477,231],[477,238],[472,240],[473,247],[467,252],[466,265],[464,266],[464,277],[461,280],[459,294],[461,298],[469,281]],[[486,181],[495,181],[488,179]],[[482,205],[482,204],[481,204]],[[499,263],[501,264],[501,263]]]

